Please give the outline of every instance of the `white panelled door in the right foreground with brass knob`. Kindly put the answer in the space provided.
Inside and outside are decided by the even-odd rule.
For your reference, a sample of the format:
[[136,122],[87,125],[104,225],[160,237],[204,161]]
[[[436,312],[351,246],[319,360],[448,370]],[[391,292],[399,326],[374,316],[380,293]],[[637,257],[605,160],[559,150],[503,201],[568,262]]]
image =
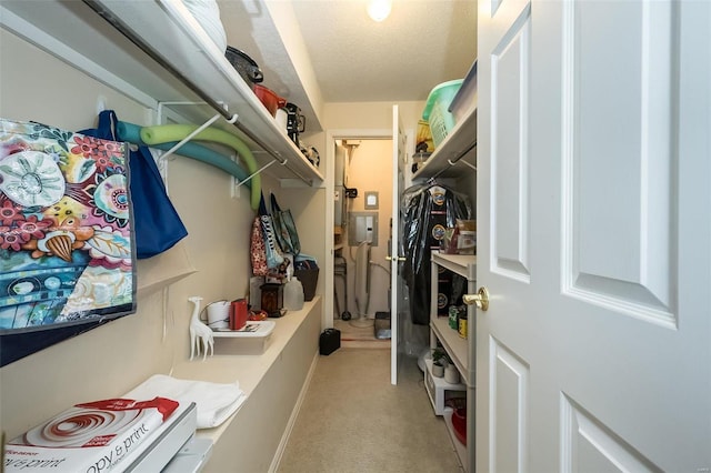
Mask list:
[[478,472],[711,469],[710,30],[480,0]]

